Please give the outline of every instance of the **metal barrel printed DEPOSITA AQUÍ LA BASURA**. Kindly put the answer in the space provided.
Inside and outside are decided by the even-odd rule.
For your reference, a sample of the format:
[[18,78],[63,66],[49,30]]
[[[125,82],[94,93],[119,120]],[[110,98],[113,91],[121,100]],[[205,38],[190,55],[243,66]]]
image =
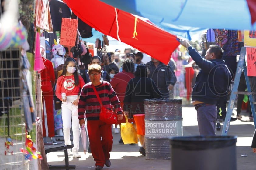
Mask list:
[[144,100],[147,160],[169,160],[170,137],[182,136],[182,99]]

